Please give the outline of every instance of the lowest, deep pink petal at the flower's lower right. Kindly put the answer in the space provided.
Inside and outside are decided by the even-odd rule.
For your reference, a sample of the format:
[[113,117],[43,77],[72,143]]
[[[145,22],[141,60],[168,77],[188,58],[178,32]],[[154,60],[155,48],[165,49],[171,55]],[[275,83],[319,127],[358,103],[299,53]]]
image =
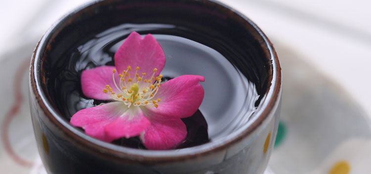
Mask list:
[[140,135],[143,145],[149,150],[174,149],[187,136],[187,129],[180,118],[168,118],[153,112],[145,112],[151,125]]

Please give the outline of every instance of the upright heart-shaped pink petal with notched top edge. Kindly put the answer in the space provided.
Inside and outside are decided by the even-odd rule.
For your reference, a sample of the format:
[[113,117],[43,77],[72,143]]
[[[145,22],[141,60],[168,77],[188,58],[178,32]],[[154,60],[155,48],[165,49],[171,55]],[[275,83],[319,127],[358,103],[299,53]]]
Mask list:
[[155,73],[158,76],[164,68],[166,62],[164,51],[157,40],[150,34],[142,38],[137,32],[131,33],[125,42],[120,46],[115,54],[115,66],[119,72],[132,67],[131,76],[135,75],[136,68],[138,73],[146,73],[144,79],[149,79],[153,69],[157,68]]

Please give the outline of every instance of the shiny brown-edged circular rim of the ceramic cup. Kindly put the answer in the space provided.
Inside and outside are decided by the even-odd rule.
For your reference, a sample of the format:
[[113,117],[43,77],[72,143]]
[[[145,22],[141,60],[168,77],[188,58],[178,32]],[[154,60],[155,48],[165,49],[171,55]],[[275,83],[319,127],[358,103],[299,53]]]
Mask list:
[[[189,0],[197,1],[197,0]],[[77,12],[84,10],[91,5],[98,3],[99,1],[94,1],[87,3],[72,10],[67,15],[63,16],[61,19],[57,20],[43,35],[41,40],[38,42],[34,53],[32,55],[31,67],[30,67],[30,84],[31,92],[35,95],[35,98],[40,105],[41,109],[44,111],[46,117],[52,124],[58,127],[64,134],[72,138],[75,145],[81,148],[87,149],[92,153],[106,157],[114,157],[119,161],[125,162],[140,162],[140,164],[153,164],[153,163],[167,163],[175,161],[185,161],[186,159],[197,158],[211,152],[221,151],[227,149],[230,145],[240,141],[241,139],[250,135],[254,132],[266,118],[272,113],[272,111],[277,107],[279,103],[279,97],[281,95],[281,68],[278,61],[277,53],[273,47],[271,41],[267,36],[256,26],[250,19],[242,15],[238,11],[234,10],[232,7],[223,4],[215,0],[205,0],[202,3],[210,3],[212,5],[218,6],[224,10],[228,10],[232,15],[240,17],[247,25],[256,31],[253,34],[256,39],[258,39],[265,51],[266,58],[271,61],[269,64],[269,79],[268,79],[268,92],[266,96],[262,99],[262,103],[256,110],[256,116],[249,121],[250,124],[246,124],[238,129],[238,131],[228,135],[222,142],[211,141],[205,144],[201,144],[194,147],[189,147],[185,149],[174,149],[174,150],[142,150],[133,149],[130,147],[118,146],[115,144],[107,143],[94,139],[85,133],[79,131],[72,125],[70,125],[66,120],[64,120],[52,107],[50,102],[47,100],[46,95],[41,86],[40,79],[41,71],[38,70],[42,64],[42,55],[47,47],[47,41],[52,33],[60,27],[64,22],[68,21],[70,17],[75,15]],[[231,15],[231,14],[229,14]]]

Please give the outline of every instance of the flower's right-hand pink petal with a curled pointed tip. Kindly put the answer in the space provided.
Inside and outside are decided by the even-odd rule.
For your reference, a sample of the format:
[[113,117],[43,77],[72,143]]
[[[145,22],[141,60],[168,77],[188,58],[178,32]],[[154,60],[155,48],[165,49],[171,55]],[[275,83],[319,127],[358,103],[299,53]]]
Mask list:
[[171,79],[162,84],[154,96],[154,99],[161,99],[158,108],[147,105],[147,109],[168,117],[189,117],[202,103],[204,90],[199,82],[203,81],[205,78],[199,75],[182,75]]

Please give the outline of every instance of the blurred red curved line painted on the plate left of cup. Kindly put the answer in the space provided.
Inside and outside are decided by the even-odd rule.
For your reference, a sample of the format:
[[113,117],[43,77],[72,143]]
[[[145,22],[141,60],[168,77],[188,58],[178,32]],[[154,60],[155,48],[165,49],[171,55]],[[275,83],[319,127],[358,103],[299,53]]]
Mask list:
[[8,155],[19,165],[25,166],[25,167],[32,167],[33,163],[30,161],[27,161],[25,159],[22,159],[19,157],[11,148],[11,144],[9,141],[9,125],[11,120],[16,116],[18,113],[22,103],[23,103],[23,96],[22,96],[22,77],[23,74],[28,70],[28,67],[30,66],[30,61],[24,61],[20,67],[18,67],[15,75],[14,80],[14,97],[15,97],[15,103],[10,107],[8,112],[5,115],[4,121],[2,122],[1,126],[1,138],[2,142],[4,143],[5,151],[8,153]]

